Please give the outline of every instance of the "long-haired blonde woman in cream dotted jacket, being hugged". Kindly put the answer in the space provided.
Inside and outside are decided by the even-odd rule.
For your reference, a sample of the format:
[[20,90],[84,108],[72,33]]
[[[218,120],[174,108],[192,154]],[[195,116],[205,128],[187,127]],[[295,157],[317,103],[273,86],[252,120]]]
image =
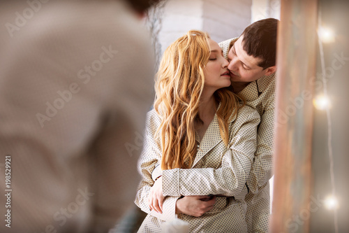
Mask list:
[[[177,214],[190,232],[246,232],[244,197],[256,146],[258,113],[225,89],[228,61],[207,33],[188,31],[165,50],[147,115],[135,199],[148,213],[139,232],[161,232]],[[181,199],[203,198],[188,215]]]

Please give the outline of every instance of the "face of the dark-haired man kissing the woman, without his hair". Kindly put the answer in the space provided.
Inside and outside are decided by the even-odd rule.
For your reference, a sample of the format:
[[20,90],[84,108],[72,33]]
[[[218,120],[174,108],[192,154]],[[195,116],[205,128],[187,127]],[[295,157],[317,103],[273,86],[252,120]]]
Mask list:
[[[232,82],[250,83],[258,80],[267,73],[268,69],[258,66],[262,60],[259,57],[249,56],[242,47],[243,36],[232,45],[228,53],[228,69]],[[269,75],[269,74],[267,74]]]

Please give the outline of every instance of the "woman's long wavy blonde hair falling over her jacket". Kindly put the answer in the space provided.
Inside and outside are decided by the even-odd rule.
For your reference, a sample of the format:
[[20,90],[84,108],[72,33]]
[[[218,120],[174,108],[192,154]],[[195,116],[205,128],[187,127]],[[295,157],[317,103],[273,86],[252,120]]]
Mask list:
[[[164,52],[155,84],[154,108],[161,117],[161,169],[189,168],[196,154],[195,122],[205,85],[204,69],[209,60],[209,35],[191,30]],[[214,93],[221,102],[216,113],[221,137],[228,145],[228,121],[237,114],[238,97],[225,88]],[[201,121],[202,122],[202,121]]]

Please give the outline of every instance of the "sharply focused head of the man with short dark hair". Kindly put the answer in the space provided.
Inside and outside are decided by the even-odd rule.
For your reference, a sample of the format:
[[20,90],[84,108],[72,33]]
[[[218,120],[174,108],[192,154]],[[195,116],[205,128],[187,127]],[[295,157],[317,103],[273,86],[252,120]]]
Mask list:
[[252,82],[276,71],[279,20],[268,18],[246,27],[228,53],[231,80]]

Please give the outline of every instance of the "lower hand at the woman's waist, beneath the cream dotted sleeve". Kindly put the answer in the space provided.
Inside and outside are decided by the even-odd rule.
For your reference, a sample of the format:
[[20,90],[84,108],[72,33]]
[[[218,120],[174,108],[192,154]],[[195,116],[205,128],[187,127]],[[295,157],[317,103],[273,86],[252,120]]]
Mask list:
[[177,200],[176,213],[200,217],[214,208],[215,202],[216,196],[186,196]]

